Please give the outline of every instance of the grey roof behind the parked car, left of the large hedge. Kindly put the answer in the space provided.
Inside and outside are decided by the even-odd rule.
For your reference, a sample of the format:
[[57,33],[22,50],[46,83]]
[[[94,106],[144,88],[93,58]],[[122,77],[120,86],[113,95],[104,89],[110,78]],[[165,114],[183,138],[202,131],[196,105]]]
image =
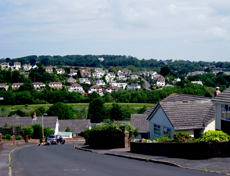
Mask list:
[[90,120],[59,120],[58,121],[60,126],[59,126],[59,131],[65,131],[67,127],[73,132],[73,133],[80,133],[83,132],[87,129],[89,129],[91,123]]

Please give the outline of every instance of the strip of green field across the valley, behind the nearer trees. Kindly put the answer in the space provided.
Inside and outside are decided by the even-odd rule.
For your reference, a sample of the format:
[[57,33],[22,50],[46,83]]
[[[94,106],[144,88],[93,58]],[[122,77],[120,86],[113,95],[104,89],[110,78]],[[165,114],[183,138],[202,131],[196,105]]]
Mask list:
[[[143,106],[146,106],[147,109],[154,106],[154,104],[148,104],[148,103],[118,103],[118,104],[122,108],[126,108],[128,106],[130,109],[133,109],[134,111],[142,108]],[[88,107],[89,107],[89,103],[71,103],[66,105],[72,106],[73,109],[76,110],[76,112],[82,109],[88,111]],[[52,106],[52,104],[35,104],[35,105],[28,105],[28,107],[25,107],[24,105],[2,105],[0,106],[0,117],[7,117],[11,111],[17,111],[17,110],[21,110],[25,112],[27,116],[30,116],[30,114],[32,114],[39,107],[43,107],[46,110],[48,110],[50,106]],[[111,108],[112,103],[105,103],[105,107]]]

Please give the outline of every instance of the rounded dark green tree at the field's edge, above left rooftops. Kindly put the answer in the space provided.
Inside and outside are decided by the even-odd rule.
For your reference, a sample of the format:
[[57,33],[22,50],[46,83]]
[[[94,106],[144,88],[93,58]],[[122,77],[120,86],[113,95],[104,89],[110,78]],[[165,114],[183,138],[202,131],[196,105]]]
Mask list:
[[47,111],[48,115],[58,116],[59,120],[74,119],[74,113],[75,111],[72,107],[60,102],[53,104]]

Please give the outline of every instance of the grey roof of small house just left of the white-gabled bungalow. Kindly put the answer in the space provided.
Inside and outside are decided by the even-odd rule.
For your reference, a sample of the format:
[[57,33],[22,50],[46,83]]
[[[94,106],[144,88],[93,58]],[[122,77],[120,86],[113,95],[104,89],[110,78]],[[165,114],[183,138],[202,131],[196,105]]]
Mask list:
[[139,133],[146,133],[148,132],[147,117],[146,114],[131,114],[130,124],[136,127]]

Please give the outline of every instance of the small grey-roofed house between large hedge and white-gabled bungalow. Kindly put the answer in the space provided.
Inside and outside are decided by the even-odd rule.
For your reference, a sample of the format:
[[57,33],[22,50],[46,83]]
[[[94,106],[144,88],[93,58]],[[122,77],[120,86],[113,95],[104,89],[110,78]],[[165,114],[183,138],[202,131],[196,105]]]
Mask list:
[[130,124],[137,128],[139,135],[136,139],[149,139],[148,124],[146,114],[131,114]]

